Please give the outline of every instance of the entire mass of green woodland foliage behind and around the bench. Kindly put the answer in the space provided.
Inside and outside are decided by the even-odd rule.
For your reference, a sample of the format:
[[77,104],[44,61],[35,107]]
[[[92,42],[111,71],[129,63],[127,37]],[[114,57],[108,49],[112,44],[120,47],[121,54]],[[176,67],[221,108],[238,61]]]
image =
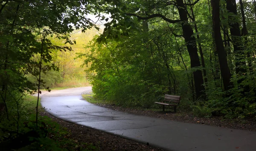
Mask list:
[[[227,7],[229,1],[220,0],[217,17],[223,40],[220,45],[224,46],[223,55],[220,55],[218,43],[213,39],[218,33],[212,27],[212,16],[216,15],[212,2],[128,0],[107,3],[99,0],[98,5],[104,7],[96,5],[95,13],[111,16],[102,18],[108,23],[103,33],[86,46],[90,52],[79,53],[79,57],[85,58],[84,66],[88,66],[87,77],[95,97],[117,105],[149,108],[164,94],[174,94],[186,100],[181,108],[191,106],[199,116],[213,113],[226,117],[254,117],[255,38],[252,35],[256,13],[251,11],[254,3],[243,1],[248,31],[245,34],[240,3],[236,3],[236,12]],[[185,17],[179,10],[182,3]],[[234,28],[235,24],[243,31]],[[188,42],[186,36],[195,37],[196,41]],[[190,46],[196,46],[198,52],[192,54]],[[193,64],[197,55],[204,66]],[[225,68],[224,62],[227,63]],[[199,86],[205,88],[202,94],[206,97],[197,97],[196,71],[204,71],[204,84]],[[230,72],[227,73],[230,77],[225,77],[227,74],[223,71]]]

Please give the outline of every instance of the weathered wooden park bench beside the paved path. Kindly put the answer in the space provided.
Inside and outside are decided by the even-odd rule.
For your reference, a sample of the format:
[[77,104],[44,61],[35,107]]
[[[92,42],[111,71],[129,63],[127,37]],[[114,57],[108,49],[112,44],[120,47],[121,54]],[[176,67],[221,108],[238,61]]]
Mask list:
[[164,106],[165,105],[173,106],[174,107],[174,112],[176,112],[176,107],[180,103],[180,96],[165,94],[163,102],[155,102],[155,103],[163,105],[163,111],[164,111]]

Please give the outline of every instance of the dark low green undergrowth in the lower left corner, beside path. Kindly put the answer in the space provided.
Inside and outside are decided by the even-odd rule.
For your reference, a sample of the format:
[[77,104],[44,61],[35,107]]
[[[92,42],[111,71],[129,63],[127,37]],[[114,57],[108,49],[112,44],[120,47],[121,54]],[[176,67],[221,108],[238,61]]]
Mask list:
[[[91,144],[78,142],[71,137],[71,132],[53,122],[47,116],[38,117],[35,124],[36,97],[24,97],[20,102],[19,118],[12,115],[0,121],[0,148],[3,151],[96,151]],[[39,106],[39,111],[44,109]],[[17,120],[18,119],[18,120]],[[17,125],[19,124],[19,125]],[[17,129],[18,128],[18,129]]]

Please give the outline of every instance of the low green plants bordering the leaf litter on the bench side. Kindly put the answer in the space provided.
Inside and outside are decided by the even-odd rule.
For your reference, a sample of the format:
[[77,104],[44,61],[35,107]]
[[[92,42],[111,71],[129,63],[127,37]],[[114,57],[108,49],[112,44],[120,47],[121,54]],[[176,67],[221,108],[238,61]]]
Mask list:
[[[150,108],[143,108],[142,106],[124,106],[125,103],[118,104],[114,101],[103,100],[98,98],[95,94],[84,94],[82,95],[84,100],[87,100],[93,104],[105,104],[105,105],[116,105],[134,109],[141,109],[147,111],[162,111],[162,105],[152,103]],[[226,103],[227,104],[227,103]],[[193,114],[195,117],[223,117],[224,119],[244,119],[244,118],[255,118],[256,119],[256,103],[247,103],[244,108],[241,107],[228,107],[223,104],[223,101],[209,100],[209,101],[197,101],[183,98],[177,107],[178,113]],[[166,107],[166,111],[173,111],[172,107]]]

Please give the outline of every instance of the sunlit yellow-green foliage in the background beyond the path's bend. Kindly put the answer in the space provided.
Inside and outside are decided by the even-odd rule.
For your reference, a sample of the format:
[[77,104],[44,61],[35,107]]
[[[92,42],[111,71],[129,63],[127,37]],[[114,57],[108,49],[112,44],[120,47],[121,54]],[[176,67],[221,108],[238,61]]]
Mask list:
[[[54,64],[57,70],[51,69],[45,71],[41,74],[41,79],[43,80],[44,85],[41,85],[41,88],[55,88],[55,87],[81,87],[89,85],[87,81],[86,74],[84,73],[84,68],[81,68],[83,62],[82,59],[76,57],[76,53],[87,52],[83,49],[83,46],[87,41],[91,40],[96,33],[100,31],[95,28],[85,31],[84,33],[81,30],[75,30],[70,34],[70,39],[75,39],[76,44],[64,44],[65,40],[58,39],[55,36],[49,37],[49,40],[56,46],[70,46],[73,51],[58,51],[51,50],[52,60],[49,63],[43,63],[44,66]],[[33,60],[37,60],[38,55],[33,57]],[[38,76],[32,74],[26,74],[25,77],[32,83],[36,83]]]

